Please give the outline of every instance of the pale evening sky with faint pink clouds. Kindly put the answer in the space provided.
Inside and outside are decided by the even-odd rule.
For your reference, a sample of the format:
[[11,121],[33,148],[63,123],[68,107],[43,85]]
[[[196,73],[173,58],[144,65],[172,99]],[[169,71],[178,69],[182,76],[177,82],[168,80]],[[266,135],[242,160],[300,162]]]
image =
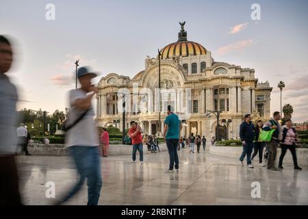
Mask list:
[[[47,20],[48,3],[55,20]],[[259,3],[260,20],[251,18]],[[18,109],[64,111],[75,88],[75,62],[103,77],[133,77],[146,55],[177,41],[179,21],[188,40],[202,44],[216,62],[254,68],[273,87],[271,112],[294,107],[295,122],[308,120],[308,1],[14,1],[0,0],[0,34],[14,38]],[[99,77],[96,79],[99,81]]]

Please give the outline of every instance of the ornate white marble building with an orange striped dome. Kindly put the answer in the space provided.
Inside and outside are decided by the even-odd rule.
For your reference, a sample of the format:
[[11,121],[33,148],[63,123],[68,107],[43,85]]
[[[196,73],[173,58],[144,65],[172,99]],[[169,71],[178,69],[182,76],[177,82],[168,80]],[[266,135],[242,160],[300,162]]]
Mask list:
[[[216,116],[205,116],[207,110],[222,111],[218,138],[224,139],[239,136],[244,114],[257,110],[270,118],[270,84],[258,83],[253,68],[215,62],[205,47],[187,40],[184,24],[181,23],[178,41],[160,51],[162,127],[167,105],[173,105],[183,119],[181,136],[194,132],[208,140],[216,136],[217,122]],[[118,101],[126,89],[130,95],[130,100],[127,100],[130,104],[126,106],[126,127],[131,120],[136,120],[145,133],[157,133],[159,92],[155,92],[155,88],[159,87],[158,60],[158,57],[147,56],[144,70],[132,79],[116,73],[101,78],[97,94],[99,126],[114,125],[122,130],[122,104]],[[146,93],[144,88],[152,92]],[[221,123],[224,120],[231,120],[231,123],[227,126]]]

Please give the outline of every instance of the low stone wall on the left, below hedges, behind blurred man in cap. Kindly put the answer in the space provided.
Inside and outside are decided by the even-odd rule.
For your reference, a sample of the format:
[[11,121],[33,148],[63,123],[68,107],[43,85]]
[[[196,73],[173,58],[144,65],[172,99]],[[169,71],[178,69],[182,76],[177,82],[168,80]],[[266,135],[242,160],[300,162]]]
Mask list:
[[[126,144],[110,144],[110,155],[131,155],[131,145]],[[159,144],[160,151],[167,151],[166,144]],[[28,151],[31,155],[49,155],[49,156],[66,156],[68,152],[65,149],[65,144],[29,144]],[[144,153],[151,153],[147,146],[143,146]],[[137,152],[138,153],[138,152]]]

